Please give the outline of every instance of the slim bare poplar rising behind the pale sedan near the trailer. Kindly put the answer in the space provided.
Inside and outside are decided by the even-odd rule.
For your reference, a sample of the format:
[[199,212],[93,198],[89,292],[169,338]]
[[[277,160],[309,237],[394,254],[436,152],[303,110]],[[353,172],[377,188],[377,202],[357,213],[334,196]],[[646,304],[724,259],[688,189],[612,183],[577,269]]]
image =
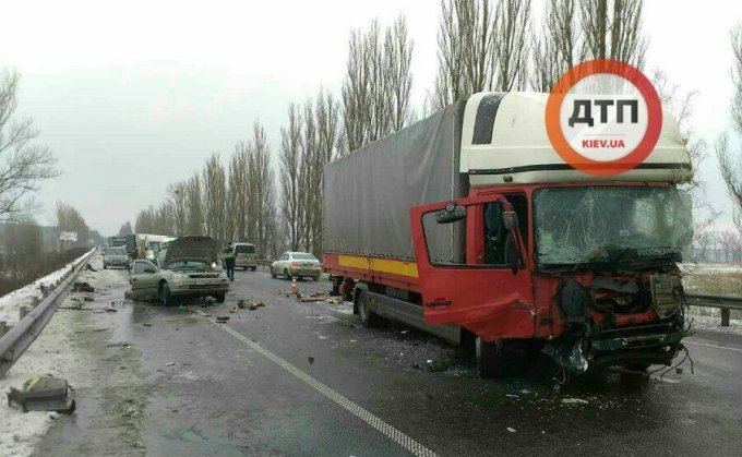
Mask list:
[[287,228],[288,244],[298,250],[303,237],[301,214],[301,131],[303,120],[297,105],[288,108],[288,129],[280,130],[280,209]]

